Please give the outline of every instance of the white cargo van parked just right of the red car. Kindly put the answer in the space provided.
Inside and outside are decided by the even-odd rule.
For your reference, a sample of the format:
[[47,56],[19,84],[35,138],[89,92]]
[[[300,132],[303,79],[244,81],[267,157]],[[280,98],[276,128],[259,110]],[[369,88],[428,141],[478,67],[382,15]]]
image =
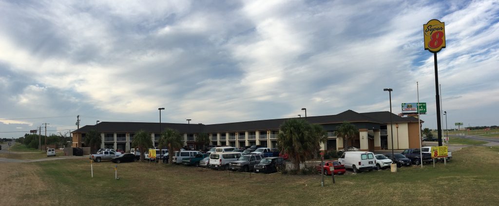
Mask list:
[[345,168],[351,168],[354,173],[363,170],[372,171],[376,169],[376,159],[374,159],[374,153],[372,152],[345,152],[338,158],[338,162],[344,164]]

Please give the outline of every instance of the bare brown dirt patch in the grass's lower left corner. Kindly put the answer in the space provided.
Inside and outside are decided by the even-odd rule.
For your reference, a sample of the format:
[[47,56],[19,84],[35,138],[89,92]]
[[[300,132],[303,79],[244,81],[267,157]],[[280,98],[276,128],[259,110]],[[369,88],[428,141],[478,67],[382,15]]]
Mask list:
[[43,182],[37,175],[39,167],[32,163],[1,163],[1,206],[51,205]]

